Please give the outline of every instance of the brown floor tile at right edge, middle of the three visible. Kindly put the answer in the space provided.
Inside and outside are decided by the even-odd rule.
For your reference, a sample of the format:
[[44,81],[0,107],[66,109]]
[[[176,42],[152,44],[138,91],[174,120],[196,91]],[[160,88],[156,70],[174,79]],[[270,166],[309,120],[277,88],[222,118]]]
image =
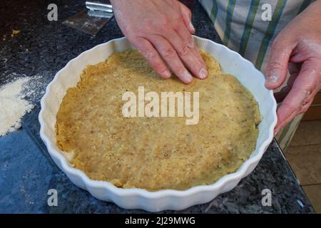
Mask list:
[[288,147],[285,157],[301,185],[321,184],[321,144]]

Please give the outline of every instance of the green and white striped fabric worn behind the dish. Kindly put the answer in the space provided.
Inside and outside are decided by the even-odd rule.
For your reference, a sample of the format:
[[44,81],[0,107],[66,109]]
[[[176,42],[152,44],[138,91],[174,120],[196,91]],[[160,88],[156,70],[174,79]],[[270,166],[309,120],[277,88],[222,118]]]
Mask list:
[[[264,72],[272,40],[313,0],[199,1],[210,16],[223,43]],[[270,20],[265,19],[269,11],[267,7],[270,7]],[[277,134],[276,137],[283,150],[290,143],[301,118],[302,115],[297,116]]]

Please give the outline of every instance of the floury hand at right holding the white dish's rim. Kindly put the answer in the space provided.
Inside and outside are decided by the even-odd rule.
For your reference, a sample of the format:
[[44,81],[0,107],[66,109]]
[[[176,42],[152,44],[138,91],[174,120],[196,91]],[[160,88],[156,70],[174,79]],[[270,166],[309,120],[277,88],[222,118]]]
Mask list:
[[287,76],[287,86],[275,93],[275,133],[300,113],[305,113],[321,88],[321,1],[311,4],[288,24],[272,43],[265,86],[275,89]]

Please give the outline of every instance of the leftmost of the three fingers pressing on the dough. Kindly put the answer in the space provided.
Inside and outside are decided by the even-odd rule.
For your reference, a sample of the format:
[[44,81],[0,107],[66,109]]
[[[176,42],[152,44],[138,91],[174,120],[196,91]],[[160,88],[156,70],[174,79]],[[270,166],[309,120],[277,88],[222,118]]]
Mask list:
[[171,73],[168,67],[163,62],[161,56],[159,56],[156,49],[153,47],[150,41],[145,38],[136,38],[131,41],[138,51],[146,58],[152,68],[164,79],[170,78]]

